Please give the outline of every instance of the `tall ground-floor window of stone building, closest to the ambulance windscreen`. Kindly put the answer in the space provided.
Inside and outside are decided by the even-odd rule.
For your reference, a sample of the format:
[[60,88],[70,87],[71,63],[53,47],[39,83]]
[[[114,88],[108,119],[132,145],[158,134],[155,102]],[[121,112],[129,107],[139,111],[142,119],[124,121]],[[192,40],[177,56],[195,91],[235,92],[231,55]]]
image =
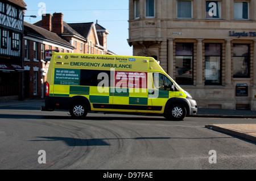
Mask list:
[[176,43],[176,82],[193,85],[193,43]]

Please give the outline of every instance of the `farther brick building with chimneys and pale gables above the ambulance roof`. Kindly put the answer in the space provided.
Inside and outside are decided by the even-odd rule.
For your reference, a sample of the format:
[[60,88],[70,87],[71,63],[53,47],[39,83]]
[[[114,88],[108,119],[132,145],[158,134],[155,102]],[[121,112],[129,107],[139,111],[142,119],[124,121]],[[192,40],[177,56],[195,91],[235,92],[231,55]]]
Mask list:
[[63,14],[55,12],[53,15],[43,15],[42,20],[34,24],[67,40],[75,47],[72,53],[114,54],[107,48],[107,35],[110,32],[98,23],[66,23]]

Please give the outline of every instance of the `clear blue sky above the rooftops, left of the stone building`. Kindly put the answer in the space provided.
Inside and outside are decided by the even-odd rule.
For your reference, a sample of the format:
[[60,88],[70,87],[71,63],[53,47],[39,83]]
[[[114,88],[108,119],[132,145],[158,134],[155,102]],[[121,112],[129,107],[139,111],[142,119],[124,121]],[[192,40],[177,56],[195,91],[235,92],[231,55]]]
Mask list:
[[110,31],[108,49],[118,55],[133,55],[133,48],[127,43],[129,37],[129,1],[128,0],[24,0],[27,4],[24,17],[28,23],[42,19],[43,7],[47,14],[62,12],[67,23],[86,23],[98,20],[98,24]]

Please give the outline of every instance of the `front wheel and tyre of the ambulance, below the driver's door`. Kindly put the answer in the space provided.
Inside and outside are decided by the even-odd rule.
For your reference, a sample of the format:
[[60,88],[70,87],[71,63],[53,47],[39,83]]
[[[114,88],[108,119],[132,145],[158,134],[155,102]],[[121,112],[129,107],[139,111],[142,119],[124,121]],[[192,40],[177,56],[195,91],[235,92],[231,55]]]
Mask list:
[[181,121],[187,115],[187,110],[182,105],[174,105],[168,108],[168,112],[164,115],[166,119],[171,121]]

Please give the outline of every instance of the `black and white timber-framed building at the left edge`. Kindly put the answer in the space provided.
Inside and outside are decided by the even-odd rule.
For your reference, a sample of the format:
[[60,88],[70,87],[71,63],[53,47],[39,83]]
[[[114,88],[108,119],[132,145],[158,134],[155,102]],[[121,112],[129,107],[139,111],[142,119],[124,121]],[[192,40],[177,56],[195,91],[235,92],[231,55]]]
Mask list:
[[0,0],[0,98],[22,99],[22,0]]

